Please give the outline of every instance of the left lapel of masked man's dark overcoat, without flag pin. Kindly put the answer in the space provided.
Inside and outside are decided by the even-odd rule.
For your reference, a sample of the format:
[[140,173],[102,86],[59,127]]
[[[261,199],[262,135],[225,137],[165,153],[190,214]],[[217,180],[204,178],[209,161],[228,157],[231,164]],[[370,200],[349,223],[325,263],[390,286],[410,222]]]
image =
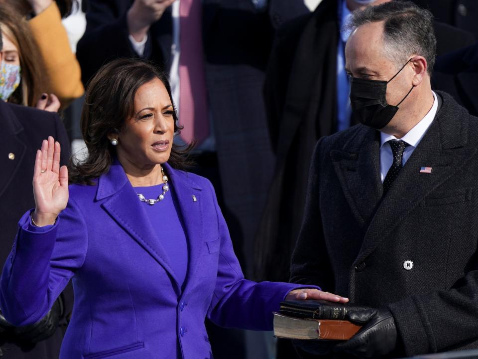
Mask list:
[[359,126],[359,134],[330,156],[350,208],[359,225],[365,227],[382,196],[380,143],[375,130]]

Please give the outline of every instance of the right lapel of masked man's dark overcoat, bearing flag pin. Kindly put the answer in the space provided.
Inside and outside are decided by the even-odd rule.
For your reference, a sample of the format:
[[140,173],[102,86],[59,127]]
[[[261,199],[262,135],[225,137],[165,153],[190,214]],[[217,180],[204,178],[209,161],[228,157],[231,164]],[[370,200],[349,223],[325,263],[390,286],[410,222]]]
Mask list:
[[[355,263],[363,261],[429,193],[466,166],[477,149],[465,151],[468,127],[457,126],[450,113],[435,121],[383,197],[370,222]],[[430,174],[420,173],[431,167]]]

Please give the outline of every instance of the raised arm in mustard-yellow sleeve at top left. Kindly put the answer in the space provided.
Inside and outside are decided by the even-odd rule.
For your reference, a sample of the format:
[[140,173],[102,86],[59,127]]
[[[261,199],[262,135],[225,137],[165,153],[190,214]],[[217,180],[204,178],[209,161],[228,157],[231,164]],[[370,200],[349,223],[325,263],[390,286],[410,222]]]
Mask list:
[[50,92],[58,96],[62,108],[65,108],[72,100],[83,95],[80,64],[71,50],[56,2],[29,2],[35,12],[29,25],[45,63]]

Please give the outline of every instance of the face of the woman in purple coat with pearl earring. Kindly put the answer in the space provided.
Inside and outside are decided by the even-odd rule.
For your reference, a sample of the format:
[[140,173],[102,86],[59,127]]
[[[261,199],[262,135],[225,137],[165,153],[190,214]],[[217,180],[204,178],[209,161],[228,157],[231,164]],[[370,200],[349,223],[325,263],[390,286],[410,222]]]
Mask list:
[[173,106],[158,78],[136,91],[134,115],[119,133],[117,153],[123,166],[149,169],[169,159],[174,136]]

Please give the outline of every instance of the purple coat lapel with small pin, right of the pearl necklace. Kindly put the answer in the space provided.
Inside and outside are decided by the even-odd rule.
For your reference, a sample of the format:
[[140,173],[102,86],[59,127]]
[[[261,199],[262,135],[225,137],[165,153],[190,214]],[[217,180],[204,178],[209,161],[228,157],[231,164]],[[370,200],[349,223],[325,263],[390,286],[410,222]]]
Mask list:
[[169,176],[173,191],[177,195],[186,236],[189,243],[189,266],[186,285],[194,278],[194,273],[200,263],[204,246],[202,187],[195,183],[188,173],[176,171],[168,164],[164,169]]

